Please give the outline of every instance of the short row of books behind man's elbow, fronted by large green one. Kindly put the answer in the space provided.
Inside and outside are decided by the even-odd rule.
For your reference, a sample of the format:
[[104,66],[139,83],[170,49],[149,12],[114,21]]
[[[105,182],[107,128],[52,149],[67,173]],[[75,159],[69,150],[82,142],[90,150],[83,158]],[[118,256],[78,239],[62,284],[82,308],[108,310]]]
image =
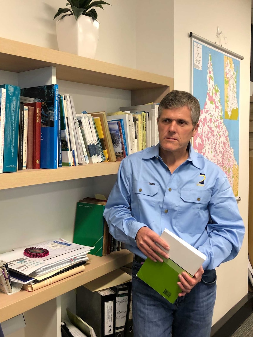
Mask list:
[[92,255],[105,256],[121,250],[121,242],[109,233],[103,217],[106,200],[92,197],[83,198],[77,203],[73,242],[92,246]]

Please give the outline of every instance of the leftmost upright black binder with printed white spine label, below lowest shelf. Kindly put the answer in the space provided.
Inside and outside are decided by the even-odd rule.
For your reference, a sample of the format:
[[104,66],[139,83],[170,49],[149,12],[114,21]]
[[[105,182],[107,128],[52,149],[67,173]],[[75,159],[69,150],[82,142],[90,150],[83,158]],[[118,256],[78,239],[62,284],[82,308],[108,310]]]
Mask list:
[[102,296],[85,286],[77,288],[77,315],[94,329],[97,337],[115,336],[115,292],[109,291]]

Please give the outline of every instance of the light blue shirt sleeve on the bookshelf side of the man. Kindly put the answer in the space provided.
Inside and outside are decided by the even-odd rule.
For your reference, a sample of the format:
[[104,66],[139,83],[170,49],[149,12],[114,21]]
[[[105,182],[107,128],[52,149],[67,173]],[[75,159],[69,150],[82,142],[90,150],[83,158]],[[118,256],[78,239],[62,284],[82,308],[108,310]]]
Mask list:
[[136,246],[136,234],[146,226],[138,222],[131,212],[132,177],[130,168],[125,160],[119,166],[117,181],[115,182],[106,203],[104,217],[109,226],[110,234],[118,241]]

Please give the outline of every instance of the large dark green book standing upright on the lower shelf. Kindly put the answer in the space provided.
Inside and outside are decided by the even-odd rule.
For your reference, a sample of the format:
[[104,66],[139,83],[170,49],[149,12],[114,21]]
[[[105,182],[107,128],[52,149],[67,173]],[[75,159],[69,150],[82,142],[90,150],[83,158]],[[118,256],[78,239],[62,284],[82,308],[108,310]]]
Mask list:
[[74,243],[95,247],[90,254],[103,256],[105,205],[77,203]]

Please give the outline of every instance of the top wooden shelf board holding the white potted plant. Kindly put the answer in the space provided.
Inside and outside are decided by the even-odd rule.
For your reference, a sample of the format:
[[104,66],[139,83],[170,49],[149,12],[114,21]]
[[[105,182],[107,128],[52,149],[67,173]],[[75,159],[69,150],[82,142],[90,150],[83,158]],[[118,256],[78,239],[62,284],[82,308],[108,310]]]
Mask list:
[[0,38],[0,69],[56,67],[57,79],[125,90],[173,88],[173,79],[149,72]]

